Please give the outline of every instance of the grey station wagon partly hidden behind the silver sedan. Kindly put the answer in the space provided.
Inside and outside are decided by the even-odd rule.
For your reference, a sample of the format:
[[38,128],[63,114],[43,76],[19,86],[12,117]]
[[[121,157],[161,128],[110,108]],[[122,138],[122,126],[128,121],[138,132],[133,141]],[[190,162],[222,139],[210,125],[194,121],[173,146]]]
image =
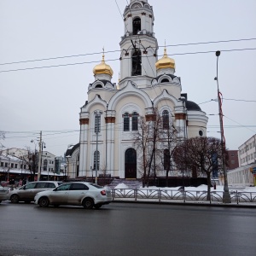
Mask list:
[[38,181],[32,183],[26,183],[20,189],[15,189],[10,192],[9,200],[12,203],[18,203],[19,201],[31,202],[34,201],[34,197],[38,192],[55,189],[63,182],[55,181]]

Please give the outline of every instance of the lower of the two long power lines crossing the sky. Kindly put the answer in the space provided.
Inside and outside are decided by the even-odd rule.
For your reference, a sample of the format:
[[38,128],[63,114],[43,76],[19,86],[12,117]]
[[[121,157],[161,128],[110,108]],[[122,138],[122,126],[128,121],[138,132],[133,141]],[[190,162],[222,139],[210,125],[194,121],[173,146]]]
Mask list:
[[[242,50],[255,50],[256,48],[245,48],[245,49],[222,49],[221,51],[231,52],[231,51],[242,51]],[[196,54],[207,54],[207,53],[215,53],[215,50],[209,51],[196,51],[196,52],[186,52],[186,53],[177,53],[172,55],[196,55]],[[150,56],[142,56],[142,58],[152,57]],[[124,58],[129,59],[129,58]],[[119,61],[119,59],[109,59],[108,61]],[[66,66],[74,66],[74,65],[83,65],[83,64],[91,64],[91,63],[98,63],[99,61],[84,61],[84,62],[77,62],[77,63],[67,63],[67,64],[59,64],[59,65],[51,65],[51,66],[42,66],[42,67],[26,67],[26,68],[17,68],[17,69],[9,69],[9,70],[2,70],[0,73],[7,73],[7,72],[16,72],[16,71],[24,71],[24,70],[32,70],[32,69],[41,69],[41,68],[50,68],[50,67],[66,67]]]

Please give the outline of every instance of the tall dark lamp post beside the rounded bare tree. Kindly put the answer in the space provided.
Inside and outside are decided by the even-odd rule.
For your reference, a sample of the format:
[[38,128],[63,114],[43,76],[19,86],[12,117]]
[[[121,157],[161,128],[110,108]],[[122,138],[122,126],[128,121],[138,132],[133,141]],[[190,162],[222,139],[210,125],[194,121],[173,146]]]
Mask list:
[[[220,51],[216,51],[217,56],[217,76],[215,80],[217,81],[217,88],[218,88],[218,56],[220,55]],[[225,160],[225,142],[224,142],[224,128],[223,128],[223,113],[222,113],[222,103],[220,100],[221,93],[218,89],[218,115],[219,115],[219,125],[220,125],[220,140],[221,140],[221,151],[222,151],[222,165],[223,165],[223,172],[224,172],[224,192],[223,192],[223,202],[230,203],[230,192],[228,186],[228,178],[227,178],[227,169],[226,169],[226,160]]]

